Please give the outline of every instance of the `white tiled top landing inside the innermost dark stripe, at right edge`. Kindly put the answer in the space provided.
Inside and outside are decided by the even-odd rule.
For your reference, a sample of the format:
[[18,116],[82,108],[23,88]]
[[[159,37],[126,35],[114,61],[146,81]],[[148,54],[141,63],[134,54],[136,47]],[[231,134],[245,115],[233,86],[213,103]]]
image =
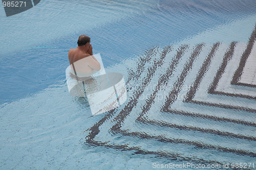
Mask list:
[[241,83],[256,85],[256,43],[254,43],[251,53],[245,63],[241,76]]

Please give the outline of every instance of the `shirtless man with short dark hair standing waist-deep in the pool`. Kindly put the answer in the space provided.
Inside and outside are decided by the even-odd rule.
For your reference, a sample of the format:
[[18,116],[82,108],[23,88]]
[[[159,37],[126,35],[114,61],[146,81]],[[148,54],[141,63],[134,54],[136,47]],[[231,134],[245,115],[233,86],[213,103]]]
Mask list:
[[90,43],[91,38],[89,36],[80,35],[77,41],[77,48],[69,51],[71,73],[75,75],[75,69],[78,77],[89,77],[95,71],[100,70],[100,64],[93,56],[93,47]]

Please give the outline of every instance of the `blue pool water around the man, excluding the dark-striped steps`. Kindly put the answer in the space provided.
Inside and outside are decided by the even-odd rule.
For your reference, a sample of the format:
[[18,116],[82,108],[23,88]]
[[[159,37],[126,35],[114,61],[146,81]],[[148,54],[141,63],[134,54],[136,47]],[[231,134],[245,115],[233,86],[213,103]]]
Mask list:
[[[90,110],[82,99],[69,95],[69,49],[76,47],[79,35],[89,35],[93,52],[101,54],[105,68],[113,68],[153,46],[247,43],[255,9],[253,0],[41,1],[11,17],[2,8],[0,168],[122,169],[161,162],[82,144],[82,132],[103,115],[88,119]],[[110,165],[112,159],[119,163]]]

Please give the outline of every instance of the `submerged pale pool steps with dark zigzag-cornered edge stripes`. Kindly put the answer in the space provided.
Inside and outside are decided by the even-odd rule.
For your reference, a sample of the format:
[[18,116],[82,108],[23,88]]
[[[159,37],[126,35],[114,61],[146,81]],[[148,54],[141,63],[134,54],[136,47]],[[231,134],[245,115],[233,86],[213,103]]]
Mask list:
[[226,81],[244,49],[239,42],[152,48],[130,69],[125,105],[89,129],[86,142],[177,161],[252,161],[255,89]]

